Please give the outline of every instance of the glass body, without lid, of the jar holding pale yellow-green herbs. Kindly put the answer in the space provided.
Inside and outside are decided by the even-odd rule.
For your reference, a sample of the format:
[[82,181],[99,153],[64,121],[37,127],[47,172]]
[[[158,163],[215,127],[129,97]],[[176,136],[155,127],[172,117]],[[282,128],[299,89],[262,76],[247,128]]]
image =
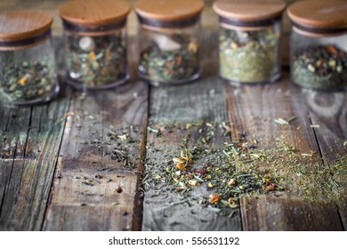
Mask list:
[[280,77],[281,21],[265,27],[220,22],[219,73],[236,84],[264,84]]

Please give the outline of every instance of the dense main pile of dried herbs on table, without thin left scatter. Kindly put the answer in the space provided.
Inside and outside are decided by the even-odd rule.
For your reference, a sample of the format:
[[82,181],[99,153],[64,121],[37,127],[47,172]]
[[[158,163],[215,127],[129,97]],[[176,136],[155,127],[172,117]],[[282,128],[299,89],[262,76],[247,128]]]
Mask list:
[[[261,149],[259,141],[247,141],[246,134],[221,148],[214,144],[214,134],[225,132],[223,127],[228,126],[201,124],[198,140],[186,137],[177,151],[149,144],[149,151],[161,157],[146,159],[142,190],[149,197],[169,192],[180,200],[173,205],[201,205],[214,212],[238,207],[243,196],[282,195],[283,191],[345,205],[347,197],[339,188],[347,182],[346,156],[328,167],[319,164],[314,152],[301,153],[284,138],[278,138],[273,149]],[[160,129],[152,129],[160,134]]]

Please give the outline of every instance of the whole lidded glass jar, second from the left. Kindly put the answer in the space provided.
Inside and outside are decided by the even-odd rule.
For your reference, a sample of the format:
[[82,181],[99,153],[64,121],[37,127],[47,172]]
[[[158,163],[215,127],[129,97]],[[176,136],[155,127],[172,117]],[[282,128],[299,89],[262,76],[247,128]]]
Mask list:
[[117,0],[61,4],[68,84],[78,90],[108,89],[129,79],[125,28],[129,12],[130,5]]

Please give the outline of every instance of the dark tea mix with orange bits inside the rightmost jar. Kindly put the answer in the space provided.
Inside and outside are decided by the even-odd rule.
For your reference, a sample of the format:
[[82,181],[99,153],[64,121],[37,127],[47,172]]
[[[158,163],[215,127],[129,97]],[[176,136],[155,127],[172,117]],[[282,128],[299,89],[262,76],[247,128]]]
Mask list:
[[347,85],[347,52],[333,44],[305,47],[294,56],[292,78],[309,88],[343,88]]

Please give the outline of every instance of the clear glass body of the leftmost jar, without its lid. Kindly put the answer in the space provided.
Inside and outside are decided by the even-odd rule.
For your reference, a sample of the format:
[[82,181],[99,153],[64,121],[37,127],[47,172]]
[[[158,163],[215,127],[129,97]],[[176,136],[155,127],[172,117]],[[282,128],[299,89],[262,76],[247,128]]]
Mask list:
[[12,107],[52,100],[59,92],[55,71],[51,37],[23,49],[3,47],[0,51],[0,103]]

